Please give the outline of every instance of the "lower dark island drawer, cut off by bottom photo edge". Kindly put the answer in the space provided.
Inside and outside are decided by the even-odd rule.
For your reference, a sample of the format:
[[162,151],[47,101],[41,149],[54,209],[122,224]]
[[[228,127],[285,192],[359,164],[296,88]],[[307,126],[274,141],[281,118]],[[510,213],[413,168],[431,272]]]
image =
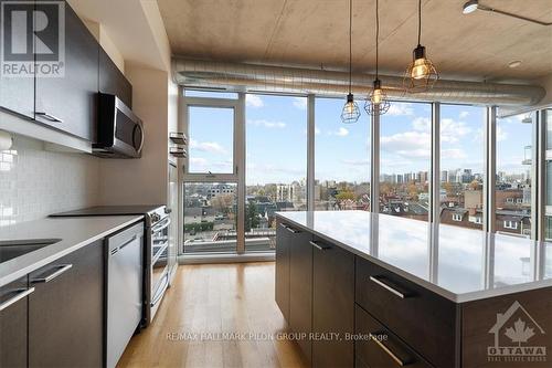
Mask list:
[[367,368],[431,368],[411,347],[375,320],[370,314],[357,305],[354,333],[355,361],[358,367]]

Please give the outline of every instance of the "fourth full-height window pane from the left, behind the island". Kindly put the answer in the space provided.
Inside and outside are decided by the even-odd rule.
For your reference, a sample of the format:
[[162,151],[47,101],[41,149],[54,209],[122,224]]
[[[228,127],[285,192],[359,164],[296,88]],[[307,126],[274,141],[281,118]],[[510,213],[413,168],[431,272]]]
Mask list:
[[468,222],[449,224],[482,229],[486,120],[485,107],[440,105],[442,223],[449,212],[467,211]]

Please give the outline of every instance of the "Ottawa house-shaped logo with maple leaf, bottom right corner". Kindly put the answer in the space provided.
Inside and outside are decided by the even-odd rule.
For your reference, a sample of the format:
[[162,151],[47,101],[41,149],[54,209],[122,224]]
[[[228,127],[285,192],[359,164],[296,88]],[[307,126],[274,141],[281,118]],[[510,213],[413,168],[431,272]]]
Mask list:
[[495,345],[487,347],[488,361],[546,361],[546,346],[539,344],[545,341],[544,329],[519,302],[497,314],[489,334],[495,335]]

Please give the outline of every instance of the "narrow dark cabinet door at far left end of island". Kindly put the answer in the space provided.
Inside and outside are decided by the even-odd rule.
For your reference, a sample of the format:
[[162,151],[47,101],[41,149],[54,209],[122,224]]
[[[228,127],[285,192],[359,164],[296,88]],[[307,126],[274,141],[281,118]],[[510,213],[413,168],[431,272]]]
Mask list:
[[288,225],[279,222],[276,225],[276,304],[284,318],[289,323],[289,242]]

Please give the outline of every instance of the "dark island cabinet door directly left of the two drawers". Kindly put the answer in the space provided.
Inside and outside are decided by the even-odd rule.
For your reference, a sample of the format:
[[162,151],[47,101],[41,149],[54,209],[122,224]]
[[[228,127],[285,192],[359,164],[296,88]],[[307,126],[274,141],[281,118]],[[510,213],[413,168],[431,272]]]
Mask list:
[[354,256],[326,241],[314,242],[312,366],[353,367],[353,341],[346,334],[354,332]]

